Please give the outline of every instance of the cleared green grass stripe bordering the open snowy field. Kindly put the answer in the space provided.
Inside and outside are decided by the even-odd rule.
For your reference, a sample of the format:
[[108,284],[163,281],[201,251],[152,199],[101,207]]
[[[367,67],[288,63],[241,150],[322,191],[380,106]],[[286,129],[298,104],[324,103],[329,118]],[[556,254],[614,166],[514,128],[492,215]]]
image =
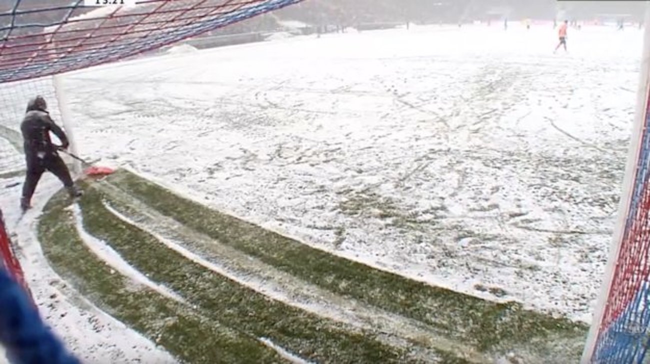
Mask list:
[[[277,269],[338,295],[426,322],[448,337],[484,352],[505,352],[526,346],[539,355],[546,352],[560,352],[565,358],[580,355],[580,343],[587,327],[579,322],[526,310],[517,302],[496,303],[433,287],[334,256],[179,197],[128,171],[118,171],[107,182],[188,228]],[[568,347],[567,341],[572,342]],[[530,348],[530,343],[535,347]]]

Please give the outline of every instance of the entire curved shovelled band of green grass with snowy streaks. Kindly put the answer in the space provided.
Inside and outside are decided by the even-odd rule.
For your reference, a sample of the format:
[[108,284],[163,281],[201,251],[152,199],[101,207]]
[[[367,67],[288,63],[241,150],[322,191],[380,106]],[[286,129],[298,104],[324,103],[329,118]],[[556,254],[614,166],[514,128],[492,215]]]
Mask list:
[[[491,358],[508,353],[531,363],[575,361],[584,342],[585,326],[333,256],[182,199],[127,171],[83,187],[86,195],[78,200],[83,234],[79,218],[75,223],[66,212],[70,201],[62,193],[38,225],[53,269],[99,307],[189,362],[213,363],[224,352],[239,360],[250,356],[214,342],[219,337],[205,332],[205,324],[247,333],[249,339],[240,339],[255,344],[258,353],[259,339],[250,343],[250,337],[262,335],[317,362],[390,362],[397,355],[404,363],[452,358],[492,363]],[[105,242],[121,259],[98,254],[94,241]],[[120,262],[148,277],[149,287],[168,287],[186,304],[169,302],[144,285],[137,289],[138,275]],[[138,298],[130,299],[134,295]],[[203,319],[180,319],[192,312]],[[179,324],[152,331],[162,317]],[[361,336],[355,334],[359,330]],[[210,353],[196,352],[196,337]],[[357,344],[350,350],[341,340]]]

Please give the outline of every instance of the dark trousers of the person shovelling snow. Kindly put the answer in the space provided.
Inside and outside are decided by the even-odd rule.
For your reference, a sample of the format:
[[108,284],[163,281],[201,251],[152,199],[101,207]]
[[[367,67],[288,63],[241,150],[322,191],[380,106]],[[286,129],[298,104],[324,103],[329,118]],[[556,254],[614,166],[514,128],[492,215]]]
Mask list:
[[25,184],[23,184],[24,199],[31,200],[36,185],[45,171],[49,171],[57,176],[66,188],[73,186],[72,176],[70,176],[68,166],[63,162],[59,154],[48,153],[43,158],[38,158],[36,155],[28,155],[27,175],[25,176]]

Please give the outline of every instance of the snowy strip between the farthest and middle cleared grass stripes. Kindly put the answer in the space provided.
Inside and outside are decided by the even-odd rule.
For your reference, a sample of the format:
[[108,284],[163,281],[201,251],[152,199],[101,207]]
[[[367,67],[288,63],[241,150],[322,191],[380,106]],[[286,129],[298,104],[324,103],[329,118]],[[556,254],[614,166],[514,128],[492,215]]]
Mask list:
[[[387,341],[391,345],[409,346],[409,343],[415,343],[459,354],[471,363],[491,362],[491,359],[471,346],[441,337],[433,328],[422,322],[335,295],[195,232],[150,208],[117,186],[101,182],[94,184],[94,187],[114,199],[114,204],[104,202],[105,207],[125,223],[151,234],[188,260],[263,295],[321,317],[388,335]],[[192,245],[192,250],[188,249],[187,245]],[[201,254],[194,250],[199,250]],[[436,357],[433,352],[418,354],[428,361]]]

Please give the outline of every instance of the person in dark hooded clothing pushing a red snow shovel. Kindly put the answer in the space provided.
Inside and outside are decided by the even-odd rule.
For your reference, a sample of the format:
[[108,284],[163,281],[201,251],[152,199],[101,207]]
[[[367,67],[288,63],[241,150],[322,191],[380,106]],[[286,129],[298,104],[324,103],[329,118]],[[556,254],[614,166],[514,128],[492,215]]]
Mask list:
[[[47,112],[45,99],[38,95],[27,104],[27,113],[20,125],[27,162],[27,175],[23,184],[23,196],[20,199],[20,208],[25,212],[31,208],[31,199],[36,185],[45,171],[50,171],[63,183],[70,197],[82,195],[72,177],[68,166],[63,162],[57,150],[68,149],[68,138],[56,125]],[[53,132],[61,141],[60,147],[50,140],[49,132]]]

